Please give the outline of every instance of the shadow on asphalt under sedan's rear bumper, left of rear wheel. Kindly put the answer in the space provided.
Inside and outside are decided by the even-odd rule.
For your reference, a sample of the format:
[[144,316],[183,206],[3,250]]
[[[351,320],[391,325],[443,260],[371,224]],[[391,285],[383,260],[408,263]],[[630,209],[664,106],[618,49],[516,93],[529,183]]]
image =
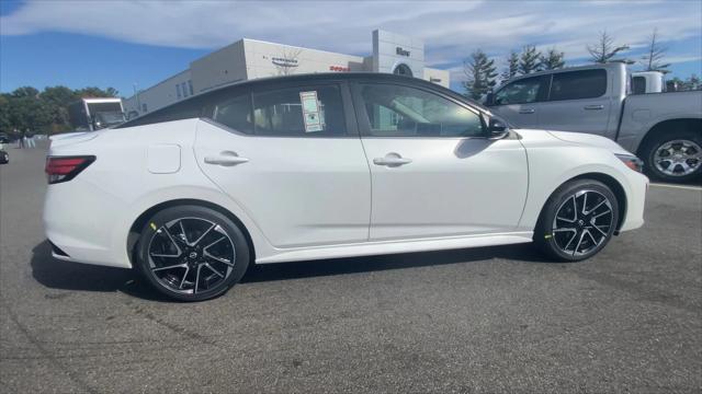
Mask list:
[[52,256],[52,246],[44,241],[32,248],[32,276],[49,289],[111,292],[155,301],[169,301],[154,290],[133,269],[64,262]]

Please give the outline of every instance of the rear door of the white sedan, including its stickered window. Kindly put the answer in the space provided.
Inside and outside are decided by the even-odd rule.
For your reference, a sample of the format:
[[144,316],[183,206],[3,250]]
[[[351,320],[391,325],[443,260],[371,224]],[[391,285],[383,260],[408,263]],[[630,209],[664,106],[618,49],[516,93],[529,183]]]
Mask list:
[[367,241],[371,181],[349,97],[336,83],[274,85],[206,109],[199,164],[275,247]]

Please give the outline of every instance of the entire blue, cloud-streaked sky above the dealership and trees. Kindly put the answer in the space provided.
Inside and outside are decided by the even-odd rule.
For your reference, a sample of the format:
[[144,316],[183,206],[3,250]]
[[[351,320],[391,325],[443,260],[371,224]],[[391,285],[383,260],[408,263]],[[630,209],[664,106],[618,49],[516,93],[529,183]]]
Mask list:
[[367,56],[375,28],[423,39],[427,66],[451,70],[461,90],[477,48],[500,71],[524,45],[555,47],[578,66],[607,31],[641,60],[656,27],[670,77],[702,76],[702,0],[0,0],[0,92],[63,84],[129,96],[242,37]]

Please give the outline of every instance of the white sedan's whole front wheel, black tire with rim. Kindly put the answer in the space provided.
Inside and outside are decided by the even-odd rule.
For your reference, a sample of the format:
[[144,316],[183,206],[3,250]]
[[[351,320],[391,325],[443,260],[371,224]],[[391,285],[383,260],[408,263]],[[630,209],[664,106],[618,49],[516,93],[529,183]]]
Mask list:
[[[556,220],[557,215],[565,219]],[[619,202],[607,185],[593,179],[570,181],[546,201],[534,230],[534,243],[550,258],[579,262],[595,256],[610,242],[618,220]]]

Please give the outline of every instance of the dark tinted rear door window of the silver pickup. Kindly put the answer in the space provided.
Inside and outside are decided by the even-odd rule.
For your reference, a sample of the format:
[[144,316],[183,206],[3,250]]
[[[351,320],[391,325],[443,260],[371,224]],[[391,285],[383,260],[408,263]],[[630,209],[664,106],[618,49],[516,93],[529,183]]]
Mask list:
[[550,101],[593,99],[607,92],[607,71],[584,70],[553,74]]

